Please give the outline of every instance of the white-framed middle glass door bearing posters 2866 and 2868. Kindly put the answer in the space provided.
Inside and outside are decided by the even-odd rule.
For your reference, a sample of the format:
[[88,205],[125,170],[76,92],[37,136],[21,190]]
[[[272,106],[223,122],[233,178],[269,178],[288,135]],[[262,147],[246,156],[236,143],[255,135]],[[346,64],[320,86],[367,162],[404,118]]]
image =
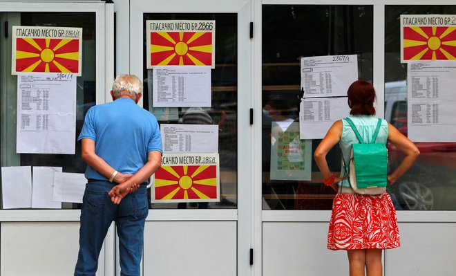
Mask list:
[[[158,118],[161,129],[184,125],[190,126],[190,132],[204,131],[207,125],[218,129],[218,140],[207,142],[215,144],[219,156],[218,199],[205,201],[204,192],[203,195],[196,192],[197,200],[174,202],[179,194],[183,201],[192,199],[192,191],[199,189],[195,186],[193,189],[191,182],[187,185],[179,182],[175,184],[177,188],[169,186],[167,199],[171,200],[165,203],[152,200],[144,239],[144,275],[183,275],[193,268],[197,275],[202,259],[207,260],[204,269],[208,269],[202,275],[211,275],[211,270],[217,270],[214,275],[246,275],[251,269],[252,247],[251,3],[240,0],[229,3],[182,0],[160,2],[160,5],[158,1],[155,5],[155,1],[133,0],[130,3],[130,43],[124,48],[129,48],[130,72],[144,80],[144,109]],[[187,74],[184,71],[190,70],[187,68],[208,74],[183,83],[185,87],[207,83],[207,88],[196,92],[198,100],[209,99],[207,102],[191,104],[190,100],[182,100],[182,94],[182,98],[161,94],[167,91],[162,85],[173,84],[159,86],[157,78],[163,77],[160,74],[175,70],[178,82]],[[209,147],[198,140],[191,143],[203,151]],[[164,147],[166,156],[169,149],[167,145]],[[191,151],[190,148],[187,140],[187,149],[180,154]],[[168,154],[171,152],[175,154],[175,149]],[[176,174],[180,177],[179,172]],[[156,187],[151,187],[151,198]],[[160,244],[169,249],[158,250]],[[184,263],[173,265],[174,258],[162,257],[167,253]]]

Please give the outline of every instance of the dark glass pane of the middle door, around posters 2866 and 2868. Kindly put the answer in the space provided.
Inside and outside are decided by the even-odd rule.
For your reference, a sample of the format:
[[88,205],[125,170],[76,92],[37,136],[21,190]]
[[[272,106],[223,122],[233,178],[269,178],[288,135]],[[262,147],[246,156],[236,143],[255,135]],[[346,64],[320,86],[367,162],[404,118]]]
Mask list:
[[[220,154],[220,202],[218,203],[153,203],[151,208],[236,208],[237,205],[237,136],[238,136],[238,88],[237,88],[237,15],[236,14],[144,14],[144,42],[146,20],[215,20],[216,21],[216,68],[211,70],[211,107],[202,108],[213,124],[219,125],[218,153]],[[185,123],[183,116],[188,108],[169,108],[167,113],[177,116],[160,116],[163,109],[154,109],[152,102],[152,70],[146,69],[144,43],[144,109],[151,111],[160,124]],[[203,115],[203,114],[201,114]],[[210,120],[210,118],[209,118]]]

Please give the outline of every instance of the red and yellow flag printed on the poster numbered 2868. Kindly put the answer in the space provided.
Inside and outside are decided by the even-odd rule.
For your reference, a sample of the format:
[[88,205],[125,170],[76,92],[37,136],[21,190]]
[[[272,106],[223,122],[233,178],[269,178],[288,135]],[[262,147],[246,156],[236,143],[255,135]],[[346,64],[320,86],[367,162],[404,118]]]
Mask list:
[[162,165],[155,172],[153,202],[218,201],[216,165]]

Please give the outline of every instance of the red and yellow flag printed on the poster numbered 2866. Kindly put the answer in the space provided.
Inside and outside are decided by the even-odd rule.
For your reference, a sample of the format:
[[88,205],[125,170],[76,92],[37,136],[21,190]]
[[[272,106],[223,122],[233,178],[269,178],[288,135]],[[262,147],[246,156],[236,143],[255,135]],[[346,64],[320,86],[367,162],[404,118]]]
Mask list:
[[151,32],[150,36],[150,66],[214,65],[211,32]]

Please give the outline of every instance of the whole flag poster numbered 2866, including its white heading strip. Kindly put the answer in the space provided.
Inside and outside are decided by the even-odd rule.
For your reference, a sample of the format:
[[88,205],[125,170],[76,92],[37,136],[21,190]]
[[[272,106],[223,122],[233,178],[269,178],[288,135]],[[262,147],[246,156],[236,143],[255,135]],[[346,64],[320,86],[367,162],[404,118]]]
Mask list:
[[215,68],[216,21],[147,20],[147,68],[203,65]]

